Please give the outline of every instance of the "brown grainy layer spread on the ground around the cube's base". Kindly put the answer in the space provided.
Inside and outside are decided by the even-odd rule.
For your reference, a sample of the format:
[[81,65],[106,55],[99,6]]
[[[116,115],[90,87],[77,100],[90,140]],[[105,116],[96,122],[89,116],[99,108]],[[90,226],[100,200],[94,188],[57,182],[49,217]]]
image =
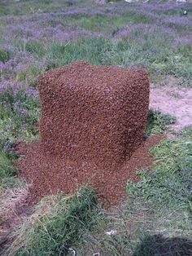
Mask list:
[[159,143],[162,135],[151,136],[143,143],[132,157],[125,161],[124,166],[116,170],[101,169],[87,163],[53,161],[41,152],[40,142],[32,144],[19,143],[16,151],[20,155],[15,161],[17,175],[32,183],[28,193],[28,203],[35,204],[41,197],[62,192],[75,192],[81,185],[89,184],[96,189],[98,201],[104,207],[118,205],[126,196],[125,188],[128,179],[137,182],[136,170],[151,166],[153,157],[148,149]]

